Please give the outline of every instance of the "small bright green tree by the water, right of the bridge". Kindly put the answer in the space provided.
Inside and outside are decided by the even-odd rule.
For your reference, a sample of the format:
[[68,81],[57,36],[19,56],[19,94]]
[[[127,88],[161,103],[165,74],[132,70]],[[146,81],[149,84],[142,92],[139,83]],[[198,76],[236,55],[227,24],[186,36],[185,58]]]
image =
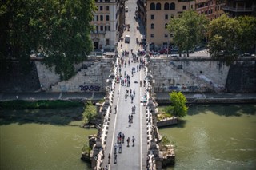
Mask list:
[[172,105],[167,106],[165,112],[174,117],[185,117],[188,110],[186,97],[181,92],[172,92],[169,95]]

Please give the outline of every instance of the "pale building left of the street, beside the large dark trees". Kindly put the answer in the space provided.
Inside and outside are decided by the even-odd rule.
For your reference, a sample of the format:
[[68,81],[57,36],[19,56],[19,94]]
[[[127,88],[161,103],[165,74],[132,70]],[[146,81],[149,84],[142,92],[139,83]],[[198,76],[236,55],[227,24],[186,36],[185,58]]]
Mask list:
[[90,34],[94,50],[114,49],[125,25],[125,0],[95,0],[95,5],[98,10],[90,22],[95,27]]

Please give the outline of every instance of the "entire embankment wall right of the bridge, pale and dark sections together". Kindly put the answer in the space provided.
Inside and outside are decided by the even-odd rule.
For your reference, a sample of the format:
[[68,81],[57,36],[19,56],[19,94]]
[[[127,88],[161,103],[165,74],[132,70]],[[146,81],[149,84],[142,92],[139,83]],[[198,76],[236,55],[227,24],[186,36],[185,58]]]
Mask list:
[[233,65],[210,57],[152,58],[154,92],[255,92],[256,58],[239,58]]

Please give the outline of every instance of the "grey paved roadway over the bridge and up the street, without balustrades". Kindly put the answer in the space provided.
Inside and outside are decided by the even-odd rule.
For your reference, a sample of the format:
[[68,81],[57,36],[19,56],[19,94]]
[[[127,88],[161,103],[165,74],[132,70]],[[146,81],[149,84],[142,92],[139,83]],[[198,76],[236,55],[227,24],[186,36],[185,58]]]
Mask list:
[[[124,32],[130,35],[130,43],[118,42],[118,52],[122,57],[122,51],[129,51],[129,55],[122,57],[127,65],[122,67],[122,77],[128,74],[130,76],[130,86],[121,85],[120,83],[115,86],[113,105],[117,106],[115,113],[114,107],[112,107],[112,114],[110,119],[109,132],[106,138],[105,158],[103,160],[103,168],[108,169],[146,169],[146,157],[147,157],[147,143],[146,143],[146,109],[141,104],[141,97],[145,93],[145,88],[140,86],[140,81],[143,82],[145,72],[143,69],[138,69],[139,62],[131,62],[131,49],[136,53],[140,48],[136,43],[136,38],[139,38],[142,32],[139,32],[136,28],[138,22],[134,19],[136,10],[136,1],[129,0],[126,2],[129,11],[126,12],[126,24],[130,24],[130,30]],[[122,44],[122,47],[121,47]],[[136,53],[137,54],[137,53]],[[130,61],[130,65],[128,62]],[[135,68],[134,75],[132,76],[132,68]],[[143,84],[143,83],[142,83]],[[130,89],[135,91],[133,103],[131,102]],[[127,100],[125,99],[126,90],[129,90]],[[119,95],[118,95],[119,92]],[[132,114],[132,107],[135,106],[135,113]],[[129,115],[133,115],[133,123],[129,126]],[[125,135],[125,142],[122,144],[122,153],[118,152],[117,148],[117,163],[114,163],[114,144],[117,143],[118,133],[122,132]],[[132,146],[132,137],[135,138],[135,145]],[[130,147],[127,147],[126,139],[130,137]],[[110,164],[108,164],[108,156],[111,156]]]

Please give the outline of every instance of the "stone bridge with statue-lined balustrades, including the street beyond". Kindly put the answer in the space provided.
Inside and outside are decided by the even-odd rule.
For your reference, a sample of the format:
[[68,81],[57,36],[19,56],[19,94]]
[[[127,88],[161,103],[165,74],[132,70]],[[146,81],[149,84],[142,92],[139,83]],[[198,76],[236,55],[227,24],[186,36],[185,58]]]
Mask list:
[[[96,144],[90,155],[94,169],[156,169],[161,163],[152,87],[154,79],[147,67],[150,56],[138,57],[135,53],[142,48],[137,45],[136,38],[140,38],[144,29],[139,26],[141,30],[137,30],[139,22],[133,15],[136,2],[128,1],[127,6],[130,12],[126,13],[126,24],[130,24],[130,29],[126,29],[123,37],[129,34],[130,43],[118,42],[112,73],[106,80],[105,102],[99,111],[102,125],[98,127]],[[120,132],[124,134],[122,152],[119,152],[118,144]]]

